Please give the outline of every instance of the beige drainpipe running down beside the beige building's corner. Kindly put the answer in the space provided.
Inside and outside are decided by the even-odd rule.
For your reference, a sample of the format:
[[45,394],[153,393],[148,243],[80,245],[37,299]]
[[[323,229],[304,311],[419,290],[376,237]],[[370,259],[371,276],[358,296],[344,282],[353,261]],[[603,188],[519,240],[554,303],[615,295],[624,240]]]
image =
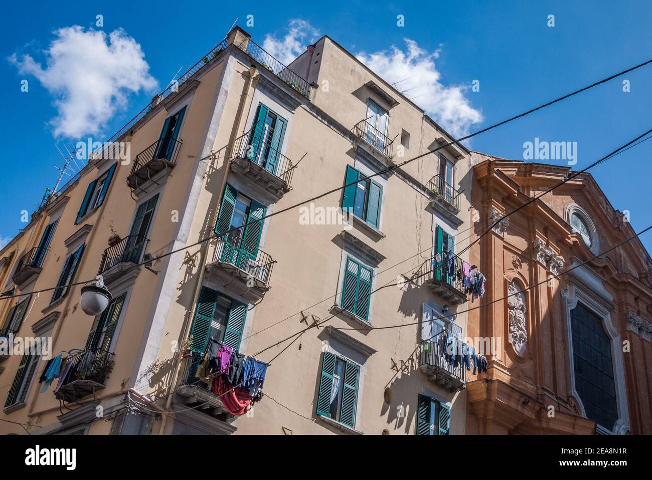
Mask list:
[[[224,159],[225,159],[224,168],[225,168],[225,171],[224,171],[224,176],[222,177],[222,185],[220,186],[220,193],[222,195],[224,195],[224,189],[226,188],[226,180],[227,180],[228,175],[229,175],[229,173],[228,173],[228,163],[226,162],[226,159],[230,158],[230,156],[231,156],[231,148],[233,148],[233,143],[234,143],[235,139],[237,138],[237,132],[238,132],[240,124],[242,122],[243,113],[244,113],[244,111],[247,111],[247,109],[245,109],[245,104],[246,104],[246,100],[247,100],[247,98],[249,96],[249,91],[252,88],[252,84],[254,83],[254,80],[258,79],[258,69],[255,66],[251,66],[247,73],[248,73],[248,78],[244,82],[243,94],[241,95],[240,103],[238,105],[238,110],[237,110],[237,113],[235,114],[235,122],[233,123],[233,130],[231,130],[231,136],[229,138],[229,145],[227,146],[226,151],[225,151],[225,155],[224,155]],[[217,197],[218,204],[220,202],[220,199],[222,198],[222,195],[219,195]],[[183,336],[181,337],[182,341],[185,340],[186,338],[188,338],[188,335],[190,335],[190,328],[192,326],[192,306],[196,305],[197,302],[198,302],[199,295],[200,295],[200,287],[201,287],[201,284],[203,283],[204,275],[205,275],[205,272],[206,272],[205,265],[206,265],[206,262],[207,262],[206,261],[207,257],[205,255],[205,253],[207,253],[208,242],[203,245],[202,249],[204,251],[203,261],[200,263],[199,275],[197,275],[197,280],[196,280],[195,285],[194,285],[194,291],[193,291],[193,295],[192,295],[192,304],[190,304],[191,313],[188,316],[188,318],[186,318],[186,320],[185,320],[185,322],[183,324],[183,327],[182,327],[182,329],[183,329]],[[181,360],[182,360],[181,354],[182,354],[181,351],[179,351],[179,352],[177,352],[175,354],[176,360],[174,361],[174,367],[172,369],[173,375],[172,375],[172,378],[170,379],[170,383],[168,384],[168,389],[167,389],[167,392],[166,392],[167,395],[168,395],[168,399],[166,401],[165,408],[162,410],[161,415],[162,415],[163,419],[162,419],[162,421],[160,423],[160,427],[158,428],[158,434],[159,435],[164,434],[166,424],[168,423],[168,415],[170,413],[170,408],[171,408],[171,405],[172,405],[172,397],[173,397],[173,395],[171,395],[171,391],[174,388],[174,386],[177,384],[177,380],[179,378],[179,371],[180,371],[179,367],[181,366]]]

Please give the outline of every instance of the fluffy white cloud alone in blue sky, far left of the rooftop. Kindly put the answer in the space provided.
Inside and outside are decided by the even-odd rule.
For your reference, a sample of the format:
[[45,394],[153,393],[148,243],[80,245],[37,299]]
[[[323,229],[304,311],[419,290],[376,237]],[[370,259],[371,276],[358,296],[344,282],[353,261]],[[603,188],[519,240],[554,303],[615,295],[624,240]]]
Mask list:
[[46,66],[31,55],[9,57],[20,74],[35,76],[56,100],[58,115],[50,120],[55,137],[101,134],[127,96],[155,91],[140,44],[117,29],[106,35],[78,25],[54,32],[43,53]]

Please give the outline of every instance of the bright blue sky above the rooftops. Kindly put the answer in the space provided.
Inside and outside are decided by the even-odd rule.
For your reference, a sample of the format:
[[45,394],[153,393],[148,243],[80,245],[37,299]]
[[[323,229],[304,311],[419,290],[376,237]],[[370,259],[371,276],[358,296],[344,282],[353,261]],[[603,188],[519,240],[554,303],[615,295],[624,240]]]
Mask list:
[[[101,28],[95,26],[98,14],[104,20]],[[249,14],[254,16],[253,27],[246,26]],[[399,14],[404,15],[404,27],[397,26]],[[550,14],[554,15],[554,27],[547,25]],[[166,87],[179,68],[188,68],[222,40],[236,18],[259,44],[267,39],[270,49],[284,46],[279,55],[288,55],[288,50],[292,53],[316,36],[328,34],[349,51],[385,68],[385,74],[394,75],[392,81],[405,69],[417,66],[420,84],[408,79],[398,83],[398,88],[410,89],[415,103],[432,111],[455,132],[479,130],[652,57],[649,1],[546,1],[536,5],[517,1],[451,5],[436,1],[424,7],[349,0],[298,9],[279,8],[278,3],[269,2],[250,2],[243,7],[202,1],[190,6],[163,0],[155,9],[145,2],[123,1],[104,6],[44,3],[38,8],[9,3],[5,19],[10,21],[5,20],[0,32],[0,88],[8,113],[0,117],[0,201],[5,205],[0,210],[0,242],[24,227],[21,211],[33,211],[46,187],[55,184],[57,171],[53,165],[63,162],[55,141],[70,148],[88,136],[67,137],[61,125],[57,128],[52,124],[61,114],[54,105],[62,100],[61,92],[52,85],[48,90],[34,70],[26,73],[23,55],[31,55],[36,64],[48,70],[48,56],[43,51],[59,36],[55,31],[74,25],[107,35],[121,28],[123,39],[131,37],[131,46],[140,45],[144,61],[137,58],[141,63],[125,72],[130,82],[122,87],[125,103],[113,104],[114,114],[94,127],[100,133],[93,138],[102,140],[145,106],[156,90],[155,82]],[[295,19],[301,21],[291,23]],[[11,55],[17,60],[10,61]],[[144,62],[149,72],[147,65],[143,70]],[[67,64],[59,64],[59,83],[61,66]],[[120,72],[115,75],[117,82],[123,78]],[[470,147],[522,159],[524,142],[535,137],[577,142],[578,163],[574,168],[581,169],[651,128],[652,65],[624,78],[630,81],[629,92],[623,92],[622,79],[617,79],[479,135]],[[22,79],[29,82],[27,92],[21,91]],[[471,90],[473,80],[479,80],[479,92]],[[129,88],[135,92],[128,92]],[[93,94],[101,96],[101,92]],[[68,120],[70,117],[75,115],[68,111]],[[73,125],[68,132],[74,131],[73,127],[79,129]],[[55,134],[59,135],[56,139]],[[652,223],[651,153],[652,141],[648,141],[592,170],[614,208],[629,210],[637,231]],[[565,160],[546,163],[567,165]],[[652,251],[652,235],[642,240]]]

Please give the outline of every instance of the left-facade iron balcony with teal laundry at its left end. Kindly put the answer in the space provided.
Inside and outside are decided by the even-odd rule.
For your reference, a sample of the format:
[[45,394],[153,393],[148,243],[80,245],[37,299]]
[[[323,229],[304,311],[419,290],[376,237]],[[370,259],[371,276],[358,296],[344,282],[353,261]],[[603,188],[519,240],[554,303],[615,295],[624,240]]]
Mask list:
[[66,402],[79,401],[104,389],[106,378],[115,363],[113,354],[100,348],[78,350],[68,362],[72,362],[72,365],[65,367],[64,376],[59,378],[54,391],[57,399]]

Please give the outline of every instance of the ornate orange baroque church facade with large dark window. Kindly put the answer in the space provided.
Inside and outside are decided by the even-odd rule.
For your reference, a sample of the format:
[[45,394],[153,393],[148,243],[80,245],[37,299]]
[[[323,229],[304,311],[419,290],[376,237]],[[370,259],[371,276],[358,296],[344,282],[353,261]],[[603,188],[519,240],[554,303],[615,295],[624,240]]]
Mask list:
[[[479,153],[472,165],[475,238],[571,172]],[[585,173],[472,247],[488,291],[467,330],[489,367],[467,386],[467,433],[652,433],[652,260],[638,238],[602,255],[634,234]]]

